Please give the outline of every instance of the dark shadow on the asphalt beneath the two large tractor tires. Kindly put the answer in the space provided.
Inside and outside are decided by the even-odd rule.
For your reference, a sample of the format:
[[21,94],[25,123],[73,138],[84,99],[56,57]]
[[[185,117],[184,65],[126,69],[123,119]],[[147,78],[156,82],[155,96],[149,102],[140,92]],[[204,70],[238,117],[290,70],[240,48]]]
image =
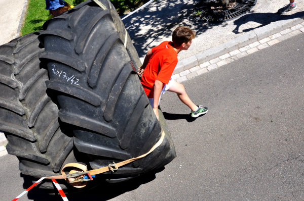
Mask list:
[[[163,168],[164,169],[164,168]],[[162,171],[163,169],[159,169],[154,172],[150,172],[136,178],[119,182],[119,183],[108,183],[102,179],[98,182],[98,185],[91,186],[91,189],[86,188],[85,190],[75,191],[73,193],[67,193],[66,190],[63,190],[66,194],[68,200],[72,201],[84,201],[84,200],[109,200],[111,198],[117,197],[125,192],[132,191],[138,188],[140,185],[153,181],[157,172]],[[24,184],[23,187],[26,189],[32,183],[30,177],[23,175]],[[97,178],[95,178],[97,179]],[[76,189],[77,190],[77,189]],[[37,187],[32,188],[28,191],[27,194],[29,199],[33,199],[34,201],[62,201],[58,190],[54,186],[52,190],[40,189]]]

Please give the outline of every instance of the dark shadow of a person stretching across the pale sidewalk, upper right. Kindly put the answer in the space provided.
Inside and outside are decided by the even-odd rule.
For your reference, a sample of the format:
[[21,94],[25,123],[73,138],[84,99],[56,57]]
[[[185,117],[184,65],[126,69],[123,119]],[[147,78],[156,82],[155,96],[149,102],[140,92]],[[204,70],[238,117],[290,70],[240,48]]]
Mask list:
[[247,22],[256,22],[261,25],[258,27],[252,27],[248,29],[244,29],[242,32],[248,32],[253,29],[268,25],[272,22],[276,22],[278,20],[289,20],[289,19],[294,19],[294,18],[302,18],[304,19],[304,11],[292,14],[292,15],[280,15],[278,13],[248,13],[239,19],[234,21],[234,24],[237,25],[237,27],[233,30],[235,34],[241,33],[239,31],[240,26],[242,24],[246,24]]

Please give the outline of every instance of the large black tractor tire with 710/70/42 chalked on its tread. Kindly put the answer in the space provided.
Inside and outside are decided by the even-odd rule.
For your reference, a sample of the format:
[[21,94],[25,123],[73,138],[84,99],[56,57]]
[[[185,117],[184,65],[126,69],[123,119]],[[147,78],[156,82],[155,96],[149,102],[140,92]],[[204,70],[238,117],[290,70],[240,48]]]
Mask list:
[[87,1],[46,22],[40,60],[59,118],[72,126],[74,146],[91,169],[148,152],[165,131],[147,157],[102,174],[115,182],[162,168],[176,154],[164,119],[157,120],[140,84],[140,61],[123,23],[109,1],[99,2],[101,7]]

